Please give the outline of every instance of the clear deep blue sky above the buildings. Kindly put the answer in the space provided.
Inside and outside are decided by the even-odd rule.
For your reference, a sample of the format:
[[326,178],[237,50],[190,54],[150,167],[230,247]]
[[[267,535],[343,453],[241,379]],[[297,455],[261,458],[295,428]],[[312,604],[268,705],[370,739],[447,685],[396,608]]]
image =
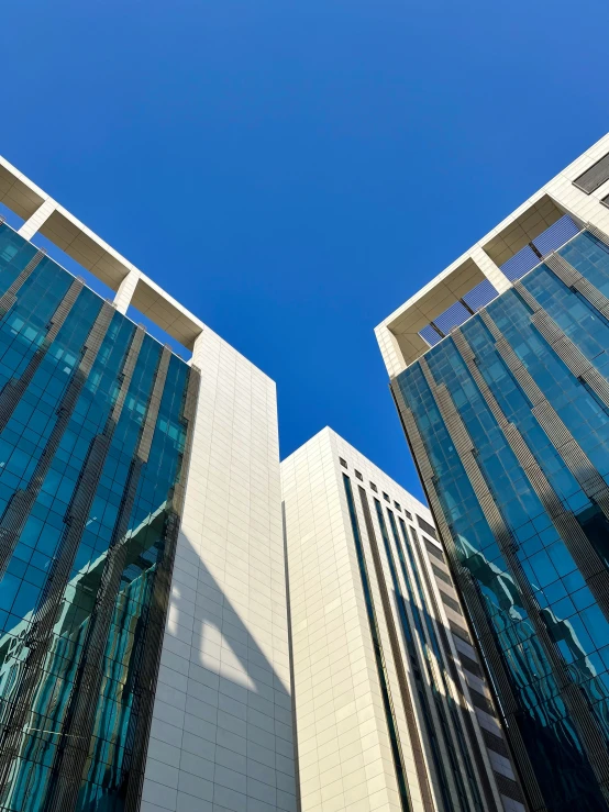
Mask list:
[[607,0],[19,0],[0,153],[420,487],[374,326],[609,130]]

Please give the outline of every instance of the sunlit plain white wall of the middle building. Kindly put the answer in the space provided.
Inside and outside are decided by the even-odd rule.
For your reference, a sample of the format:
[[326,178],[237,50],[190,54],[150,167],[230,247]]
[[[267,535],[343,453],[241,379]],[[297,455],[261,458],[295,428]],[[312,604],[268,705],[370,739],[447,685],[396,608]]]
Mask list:
[[[398,812],[401,805],[339,464],[346,451],[340,444],[353,457],[355,449],[326,429],[281,464],[302,812]],[[357,507],[357,480],[351,466],[347,472]],[[377,483],[380,490],[380,479]],[[365,534],[364,516],[357,510]],[[427,510],[422,515],[430,518]],[[412,807],[419,812],[421,794],[372,560],[367,568]]]

